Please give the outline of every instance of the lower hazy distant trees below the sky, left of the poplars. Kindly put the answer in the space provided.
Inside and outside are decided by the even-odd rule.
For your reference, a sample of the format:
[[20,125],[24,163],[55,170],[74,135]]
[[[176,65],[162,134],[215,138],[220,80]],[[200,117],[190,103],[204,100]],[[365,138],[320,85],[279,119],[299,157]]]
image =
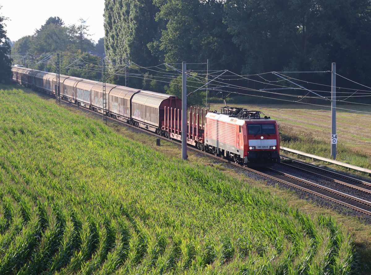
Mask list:
[[[84,24],[66,26],[59,17],[49,17],[34,34],[24,36],[14,43],[14,62],[37,70],[55,72],[55,53],[58,52],[62,74],[99,80],[102,75],[104,38],[95,44],[89,39],[88,27]],[[48,57],[50,53],[52,55]],[[22,58],[26,54],[27,57]]]

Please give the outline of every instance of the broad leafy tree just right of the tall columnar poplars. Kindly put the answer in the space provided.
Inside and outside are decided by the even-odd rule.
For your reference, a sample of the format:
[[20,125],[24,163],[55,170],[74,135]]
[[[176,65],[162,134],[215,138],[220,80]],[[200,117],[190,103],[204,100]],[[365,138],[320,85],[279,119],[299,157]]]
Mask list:
[[239,67],[238,52],[223,24],[223,2],[217,0],[154,0],[161,36],[150,44],[165,62],[205,62],[229,69]]

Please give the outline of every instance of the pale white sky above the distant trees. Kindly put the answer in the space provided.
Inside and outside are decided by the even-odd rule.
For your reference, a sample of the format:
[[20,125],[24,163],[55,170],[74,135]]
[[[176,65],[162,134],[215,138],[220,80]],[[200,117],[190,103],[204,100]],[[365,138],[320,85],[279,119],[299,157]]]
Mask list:
[[[0,3],[0,15],[8,17],[6,24],[7,37],[17,41],[23,36],[32,35],[49,17],[58,16],[65,25],[78,24],[80,18],[89,26],[89,39],[98,42],[104,37],[103,13],[104,0],[5,0]],[[57,4],[60,3],[60,4]]]

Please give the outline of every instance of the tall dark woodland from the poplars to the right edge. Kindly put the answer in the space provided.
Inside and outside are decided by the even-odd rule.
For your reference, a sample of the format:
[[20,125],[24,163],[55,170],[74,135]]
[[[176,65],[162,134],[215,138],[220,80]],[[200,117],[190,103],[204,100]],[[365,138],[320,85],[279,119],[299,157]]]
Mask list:
[[[370,15],[369,0],[106,0],[105,52],[147,66],[210,59],[210,69],[244,75],[336,62],[339,74],[368,83]],[[329,84],[328,74],[301,77]]]

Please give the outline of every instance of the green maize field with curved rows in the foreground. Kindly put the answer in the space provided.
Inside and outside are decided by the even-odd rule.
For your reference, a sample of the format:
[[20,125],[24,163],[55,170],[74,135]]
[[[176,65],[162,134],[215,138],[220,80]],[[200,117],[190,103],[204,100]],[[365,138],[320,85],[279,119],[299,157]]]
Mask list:
[[348,274],[349,233],[101,122],[0,90],[0,274]]

